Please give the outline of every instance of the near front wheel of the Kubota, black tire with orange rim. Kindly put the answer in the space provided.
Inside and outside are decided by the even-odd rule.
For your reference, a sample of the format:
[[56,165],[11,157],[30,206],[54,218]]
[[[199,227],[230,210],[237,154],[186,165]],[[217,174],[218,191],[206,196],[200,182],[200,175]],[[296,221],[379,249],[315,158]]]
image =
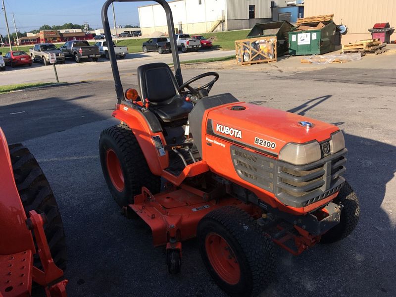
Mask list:
[[200,220],[197,236],[209,274],[230,296],[257,296],[272,281],[273,243],[247,212],[217,208]]

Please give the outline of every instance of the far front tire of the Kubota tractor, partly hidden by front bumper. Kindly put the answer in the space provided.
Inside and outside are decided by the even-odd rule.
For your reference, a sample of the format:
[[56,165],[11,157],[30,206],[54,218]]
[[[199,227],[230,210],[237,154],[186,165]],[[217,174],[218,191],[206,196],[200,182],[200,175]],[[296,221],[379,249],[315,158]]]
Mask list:
[[344,206],[341,210],[340,223],[322,235],[320,239],[322,244],[332,244],[346,238],[356,228],[359,221],[359,200],[347,182],[344,183],[334,202]]

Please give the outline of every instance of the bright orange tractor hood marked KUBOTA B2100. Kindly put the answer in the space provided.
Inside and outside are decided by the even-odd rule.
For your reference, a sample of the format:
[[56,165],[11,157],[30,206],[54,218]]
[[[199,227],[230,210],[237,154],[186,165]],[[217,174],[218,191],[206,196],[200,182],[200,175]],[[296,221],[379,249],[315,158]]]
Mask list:
[[245,102],[220,105],[206,117],[206,135],[274,157],[288,143],[322,142],[338,130],[315,119]]

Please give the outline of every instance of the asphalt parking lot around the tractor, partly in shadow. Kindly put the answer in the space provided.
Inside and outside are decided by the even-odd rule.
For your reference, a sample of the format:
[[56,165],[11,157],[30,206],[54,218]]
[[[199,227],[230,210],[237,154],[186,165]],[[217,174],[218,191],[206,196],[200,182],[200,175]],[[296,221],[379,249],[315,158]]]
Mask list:
[[[213,63],[183,72],[187,80],[217,71],[213,95],[232,93],[333,123],[345,133],[347,180],[361,205],[357,228],[340,243],[299,256],[279,249],[276,280],[263,296],[396,296],[395,55],[310,65],[309,71],[293,65]],[[124,88],[137,86],[130,72],[123,75]],[[203,267],[196,240],[183,243],[181,273],[169,275],[164,248],[154,248],[150,230],[124,218],[112,200],[98,141],[102,129],[117,123],[111,118],[115,102],[111,76],[0,95],[0,126],[9,143],[32,150],[58,200],[69,296],[225,296]]]

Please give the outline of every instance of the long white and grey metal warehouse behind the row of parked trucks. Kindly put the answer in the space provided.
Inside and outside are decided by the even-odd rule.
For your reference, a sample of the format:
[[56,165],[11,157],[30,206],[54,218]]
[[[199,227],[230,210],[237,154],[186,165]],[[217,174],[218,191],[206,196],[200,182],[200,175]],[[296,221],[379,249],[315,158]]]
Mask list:
[[[271,2],[286,6],[288,0],[173,0],[175,31],[204,33],[248,29],[271,21]],[[168,34],[164,9],[159,4],[139,7],[142,35],[160,31]]]

